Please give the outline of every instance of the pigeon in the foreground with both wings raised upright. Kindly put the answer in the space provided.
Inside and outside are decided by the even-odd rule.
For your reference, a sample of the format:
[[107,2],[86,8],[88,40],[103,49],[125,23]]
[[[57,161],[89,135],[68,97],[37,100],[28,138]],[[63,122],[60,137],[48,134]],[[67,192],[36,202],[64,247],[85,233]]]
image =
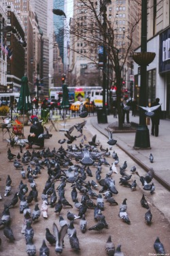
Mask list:
[[64,225],[61,227],[61,230],[58,231],[58,227],[55,223],[53,223],[53,232],[54,236],[56,238],[56,246],[55,251],[56,253],[62,253],[63,252],[63,240],[65,237],[65,234],[67,233],[67,225]]

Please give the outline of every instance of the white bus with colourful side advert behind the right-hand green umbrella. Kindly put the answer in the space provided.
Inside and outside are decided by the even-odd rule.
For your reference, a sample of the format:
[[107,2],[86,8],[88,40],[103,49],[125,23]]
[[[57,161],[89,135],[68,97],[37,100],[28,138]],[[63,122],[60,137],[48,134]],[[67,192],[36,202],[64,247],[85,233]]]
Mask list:
[[[68,87],[69,90],[69,101],[74,102],[81,96],[83,100],[86,100],[90,95],[90,91],[93,89],[102,89],[101,86],[82,86],[82,87]],[[63,96],[62,87],[50,87],[50,98],[58,100]]]

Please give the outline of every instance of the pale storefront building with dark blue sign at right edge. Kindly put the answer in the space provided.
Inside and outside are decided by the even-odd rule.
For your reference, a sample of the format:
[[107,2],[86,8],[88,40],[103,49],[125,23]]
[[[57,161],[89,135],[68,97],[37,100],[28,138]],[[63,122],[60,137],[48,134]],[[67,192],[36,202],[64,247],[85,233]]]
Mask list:
[[[170,5],[169,1],[148,1],[147,51],[156,53],[147,66],[147,98],[150,105],[160,98],[163,118],[170,117]],[[141,49],[137,48],[136,52]],[[140,68],[135,64],[135,98],[139,98]],[[139,100],[138,100],[139,102]]]

